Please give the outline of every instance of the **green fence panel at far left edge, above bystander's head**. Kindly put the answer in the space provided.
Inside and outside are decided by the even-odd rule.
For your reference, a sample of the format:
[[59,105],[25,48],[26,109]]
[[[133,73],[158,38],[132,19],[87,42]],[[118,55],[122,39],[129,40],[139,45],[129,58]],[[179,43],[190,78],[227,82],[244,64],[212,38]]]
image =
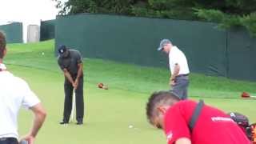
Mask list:
[[8,43],[22,43],[22,23],[14,22],[8,25],[0,26],[0,30],[6,34]]

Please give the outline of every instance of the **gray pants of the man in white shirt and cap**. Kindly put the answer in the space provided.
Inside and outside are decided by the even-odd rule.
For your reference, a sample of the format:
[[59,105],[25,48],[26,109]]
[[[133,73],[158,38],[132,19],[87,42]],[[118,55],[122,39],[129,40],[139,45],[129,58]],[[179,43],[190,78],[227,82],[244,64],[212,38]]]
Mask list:
[[178,76],[175,79],[175,85],[172,86],[173,92],[178,94],[179,98],[186,99],[187,98],[187,90],[189,86],[189,77],[188,76]]

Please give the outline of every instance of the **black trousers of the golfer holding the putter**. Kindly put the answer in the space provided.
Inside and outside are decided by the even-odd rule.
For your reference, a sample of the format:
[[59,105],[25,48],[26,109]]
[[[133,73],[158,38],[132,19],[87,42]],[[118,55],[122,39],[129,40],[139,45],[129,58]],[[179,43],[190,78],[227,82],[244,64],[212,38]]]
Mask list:
[[[75,80],[76,76],[72,76]],[[73,89],[74,87],[65,78],[64,90],[65,90],[65,102],[64,102],[64,112],[63,112],[63,122],[70,121],[70,114],[72,110],[72,100],[73,100]],[[78,88],[75,90],[75,103],[76,103],[76,119],[78,122],[82,122],[84,116],[84,102],[83,102],[83,76],[79,78]]]

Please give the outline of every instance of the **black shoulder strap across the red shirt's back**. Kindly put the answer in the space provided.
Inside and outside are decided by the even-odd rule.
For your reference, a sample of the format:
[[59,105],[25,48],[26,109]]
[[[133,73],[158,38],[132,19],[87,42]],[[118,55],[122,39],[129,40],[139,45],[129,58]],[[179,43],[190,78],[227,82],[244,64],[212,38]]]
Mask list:
[[193,111],[193,114],[190,118],[190,132],[192,133],[192,130],[194,128],[194,125],[195,123],[197,122],[198,120],[198,116],[199,114],[201,113],[201,110],[202,110],[202,106],[204,105],[204,102],[202,99],[199,100],[197,106],[195,107],[194,111]]

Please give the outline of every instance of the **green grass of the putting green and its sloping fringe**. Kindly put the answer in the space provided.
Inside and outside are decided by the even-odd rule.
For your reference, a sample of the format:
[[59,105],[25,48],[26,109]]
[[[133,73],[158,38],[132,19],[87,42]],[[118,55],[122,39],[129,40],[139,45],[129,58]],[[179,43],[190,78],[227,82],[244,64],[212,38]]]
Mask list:
[[[54,57],[54,41],[8,45],[5,63],[8,70],[30,84],[46,107],[48,116],[38,134],[38,144],[166,143],[162,131],[146,122],[145,104],[154,90],[169,89],[167,69],[85,58],[85,125],[59,126],[64,99],[63,75]],[[99,90],[98,82],[106,83],[110,90]],[[239,96],[242,91],[256,94],[255,87],[255,82],[191,74],[189,94],[190,98],[203,98],[210,105],[241,112],[255,121],[256,100]],[[31,117],[22,110],[20,134],[26,134]],[[129,125],[134,128],[128,128]]]

